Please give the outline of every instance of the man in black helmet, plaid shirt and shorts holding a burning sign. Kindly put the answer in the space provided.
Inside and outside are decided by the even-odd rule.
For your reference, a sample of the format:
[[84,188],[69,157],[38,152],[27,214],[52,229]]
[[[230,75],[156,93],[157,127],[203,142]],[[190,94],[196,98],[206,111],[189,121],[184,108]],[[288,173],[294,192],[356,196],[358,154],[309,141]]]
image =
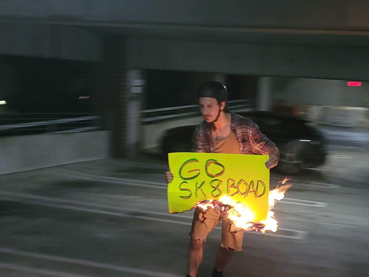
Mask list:
[[[228,110],[227,88],[216,81],[204,83],[199,89],[200,110],[204,121],[194,131],[193,152],[227,154],[268,154],[266,168],[275,167],[279,160],[279,150],[275,144],[259,131],[251,120]],[[173,174],[166,172],[166,181],[173,180]],[[196,209],[190,233],[188,250],[188,275],[195,277],[203,257],[203,244],[207,235],[220,222],[221,215],[216,209],[202,211]],[[258,230],[255,225],[250,230]],[[234,251],[242,251],[244,230],[222,222],[221,246],[215,256],[212,277],[222,277]]]

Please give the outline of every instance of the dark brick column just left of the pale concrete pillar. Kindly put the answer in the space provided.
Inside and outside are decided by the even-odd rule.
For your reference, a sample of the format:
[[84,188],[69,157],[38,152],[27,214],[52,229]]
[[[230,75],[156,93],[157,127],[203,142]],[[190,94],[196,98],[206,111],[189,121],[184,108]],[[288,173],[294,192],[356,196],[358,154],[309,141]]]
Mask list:
[[111,156],[124,158],[127,153],[127,89],[125,40],[106,36],[104,58],[91,70],[91,90],[96,111],[103,113],[111,131]]

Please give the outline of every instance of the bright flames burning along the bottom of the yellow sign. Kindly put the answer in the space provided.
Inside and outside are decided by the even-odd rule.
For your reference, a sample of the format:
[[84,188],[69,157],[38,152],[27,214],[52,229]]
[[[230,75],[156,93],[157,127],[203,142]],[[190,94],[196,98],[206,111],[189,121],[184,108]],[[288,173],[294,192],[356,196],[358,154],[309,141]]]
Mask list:
[[252,222],[255,218],[254,212],[241,204],[241,202],[236,202],[232,198],[228,196],[223,196],[219,200],[203,200],[197,203],[194,208],[200,208],[206,211],[207,209],[218,209],[221,215],[224,216],[225,220],[233,223],[237,228],[241,228],[247,231],[255,230],[256,232],[261,231],[265,233],[265,231],[270,230],[272,232],[277,231],[278,222],[274,216],[274,212],[272,211],[275,207],[277,201],[284,198],[284,193],[289,189],[292,185],[285,183],[289,179],[284,178],[283,181],[280,181],[282,184],[280,187],[276,187],[269,191],[268,196],[268,215],[265,220],[261,222]]

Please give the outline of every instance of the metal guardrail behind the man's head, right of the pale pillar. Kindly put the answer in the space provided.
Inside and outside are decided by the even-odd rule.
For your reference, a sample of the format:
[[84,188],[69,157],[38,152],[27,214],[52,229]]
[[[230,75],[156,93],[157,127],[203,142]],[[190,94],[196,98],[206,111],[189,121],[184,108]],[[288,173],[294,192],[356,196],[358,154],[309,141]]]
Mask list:
[[[232,110],[251,107],[250,101],[247,99],[228,101],[227,105]],[[199,105],[166,107],[159,109],[142,110],[141,121],[145,123],[154,123],[162,120],[194,116],[197,114],[200,114]]]

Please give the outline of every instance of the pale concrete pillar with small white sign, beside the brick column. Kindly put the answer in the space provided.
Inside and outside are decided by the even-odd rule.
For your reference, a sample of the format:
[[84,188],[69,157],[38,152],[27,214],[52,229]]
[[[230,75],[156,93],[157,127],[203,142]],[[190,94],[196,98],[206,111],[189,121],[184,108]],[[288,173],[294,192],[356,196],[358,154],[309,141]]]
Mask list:
[[134,155],[139,151],[141,143],[142,92],[145,79],[140,69],[128,70],[127,89],[127,154]]

